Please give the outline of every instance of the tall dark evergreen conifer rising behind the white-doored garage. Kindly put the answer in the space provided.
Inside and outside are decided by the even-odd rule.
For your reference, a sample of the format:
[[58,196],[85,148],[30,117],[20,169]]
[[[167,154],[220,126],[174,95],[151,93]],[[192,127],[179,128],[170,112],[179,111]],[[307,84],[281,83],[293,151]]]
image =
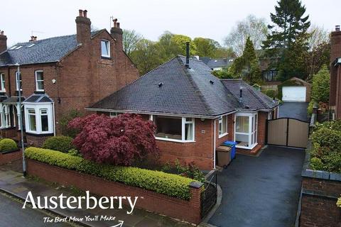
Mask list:
[[[293,76],[305,78],[305,62],[308,52],[309,16],[304,16],[305,6],[299,0],[280,0],[275,6],[276,13],[271,13],[271,33],[263,42],[268,56],[279,56],[276,62],[278,77],[282,81]],[[271,65],[274,67],[274,65]]]

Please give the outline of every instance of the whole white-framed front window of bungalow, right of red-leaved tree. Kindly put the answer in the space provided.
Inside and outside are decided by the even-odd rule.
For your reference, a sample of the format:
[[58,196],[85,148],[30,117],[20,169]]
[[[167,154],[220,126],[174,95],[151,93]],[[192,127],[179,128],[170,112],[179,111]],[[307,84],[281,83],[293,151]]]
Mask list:
[[194,142],[194,118],[151,115],[151,121],[156,125],[155,137],[158,140],[175,142]]

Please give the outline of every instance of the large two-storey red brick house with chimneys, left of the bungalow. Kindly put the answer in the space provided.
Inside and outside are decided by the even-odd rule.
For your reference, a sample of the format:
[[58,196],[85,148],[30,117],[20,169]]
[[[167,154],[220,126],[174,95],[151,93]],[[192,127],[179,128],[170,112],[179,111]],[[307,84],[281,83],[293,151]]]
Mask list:
[[[31,37],[7,48],[0,33],[1,135],[17,138],[18,109],[23,111],[29,145],[41,145],[60,133],[58,121],[71,109],[85,107],[116,92],[139,77],[123,51],[122,30],[114,20],[106,29],[91,31],[87,11],[79,11],[77,33],[44,40]],[[21,74],[17,67],[20,65]],[[20,88],[17,82],[20,81]],[[23,106],[18,106],[18,92]]]

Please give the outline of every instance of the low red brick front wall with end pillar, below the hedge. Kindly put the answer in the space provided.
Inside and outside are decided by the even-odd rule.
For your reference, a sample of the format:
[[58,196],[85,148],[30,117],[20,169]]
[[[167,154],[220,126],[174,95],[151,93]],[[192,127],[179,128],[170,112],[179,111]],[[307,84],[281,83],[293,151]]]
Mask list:
[[[200,196],[202,184],[193,182],[190,186],[192,194],[189,201],[158,194],[156,192],[131,187],[119,182],[87,175],[74,170],[48,165],[35,160],[26,160],[28,175],[40,177],[48,182],[57,182],[65,186],[73,186],[92,194],[101,196],[139,196],[136,207],[179,218],[190,223],[200,223]],[[143,197],[143,199],[141,198]]]

